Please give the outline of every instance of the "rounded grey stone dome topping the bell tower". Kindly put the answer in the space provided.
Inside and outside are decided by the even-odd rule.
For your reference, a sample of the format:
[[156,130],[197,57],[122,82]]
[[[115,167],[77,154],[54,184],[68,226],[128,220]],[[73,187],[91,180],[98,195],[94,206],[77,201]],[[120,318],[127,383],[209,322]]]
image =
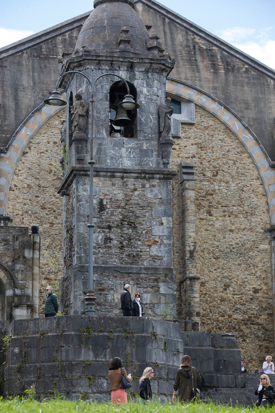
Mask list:
[[133,0],[95,0],[94,10],[85,21],[75,46],[98,55],[148,54],[150,41]]

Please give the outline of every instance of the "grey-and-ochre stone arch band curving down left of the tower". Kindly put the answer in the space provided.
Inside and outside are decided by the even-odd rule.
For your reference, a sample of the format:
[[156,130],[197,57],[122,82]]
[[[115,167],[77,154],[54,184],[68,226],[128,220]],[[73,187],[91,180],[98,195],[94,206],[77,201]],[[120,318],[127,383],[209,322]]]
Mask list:
[[[65,99],[65,95],[61,95]],[[0,215],[7,215],[9,187],[16,165],[28,142],[35,132],[53,115],[63,109],[63,106],[49,106],[40,103],[14,131],[1,151],[0,156]]]

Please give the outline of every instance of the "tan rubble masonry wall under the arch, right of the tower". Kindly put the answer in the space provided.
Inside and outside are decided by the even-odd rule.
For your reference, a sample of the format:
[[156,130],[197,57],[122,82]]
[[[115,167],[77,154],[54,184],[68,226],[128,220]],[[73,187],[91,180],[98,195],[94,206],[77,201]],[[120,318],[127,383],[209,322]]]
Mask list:
[[[242,360],[252,371],[273,349],[266,194],[253,161],[235,135],[204,109],[196,106],[195,110],[195,125],[182,125],[182,138],[174,139],[172,168],[179,170],[180,162],[194,164],[200,330],[232,332]],[[177,278],[182,253],[180,196],[179,180],[174,178]]]

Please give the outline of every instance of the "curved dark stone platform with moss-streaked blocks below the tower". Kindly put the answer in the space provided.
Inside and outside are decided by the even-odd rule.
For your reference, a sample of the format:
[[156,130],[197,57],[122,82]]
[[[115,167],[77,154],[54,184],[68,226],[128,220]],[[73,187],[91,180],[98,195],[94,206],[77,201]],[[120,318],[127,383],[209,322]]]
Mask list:
[[172,321],[61,316],[14,320],[0,333],[6,337],[0,360],[5,361],[2,395],[23,394],[35,383],[38,399],[58,392],[69,399],[108,401],[108,366],[115,356],[122,358],[134,378],[128,390],[132,399],[139,398],[144,368],[152,366],[154,398],[171,401],[183,354],[190,355],[202,374],[202,399],[252,405],[259,381],[259,375],[240,373],[241,354],[234,335],[182,332]]

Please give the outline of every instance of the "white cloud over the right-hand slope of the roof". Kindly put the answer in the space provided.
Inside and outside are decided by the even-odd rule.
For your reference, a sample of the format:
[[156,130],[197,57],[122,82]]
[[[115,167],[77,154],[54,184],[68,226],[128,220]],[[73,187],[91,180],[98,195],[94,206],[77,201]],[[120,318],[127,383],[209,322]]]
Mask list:
[[270,38],[272,27],[255,30],[249,27],[232,27],[216,31],[216,36],[275,69],[275,40]]

